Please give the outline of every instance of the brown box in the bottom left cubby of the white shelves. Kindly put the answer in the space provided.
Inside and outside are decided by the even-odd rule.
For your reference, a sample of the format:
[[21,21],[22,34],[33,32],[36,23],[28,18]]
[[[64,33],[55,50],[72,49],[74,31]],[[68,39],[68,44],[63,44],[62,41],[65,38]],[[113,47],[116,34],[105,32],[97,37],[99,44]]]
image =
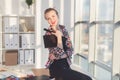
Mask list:
[[18,51],[7,51],[5,53],[5,65],[12,66],[18,63]]

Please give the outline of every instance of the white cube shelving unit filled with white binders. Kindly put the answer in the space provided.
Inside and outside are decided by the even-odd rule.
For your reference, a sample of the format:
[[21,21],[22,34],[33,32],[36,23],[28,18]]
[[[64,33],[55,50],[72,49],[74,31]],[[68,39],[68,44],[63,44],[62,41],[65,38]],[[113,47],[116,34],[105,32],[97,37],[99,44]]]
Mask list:
[[[11,53],[11,51],[13,51],[13,53]],[[34,16],[2,16],[3,62],[5,62],[6,64],[7,60],[9,60],[8,58],[12,58],[8,54],[14,55],[16,53],[17,53],[16,57],[18,58],[17,59],[18,64],[34,64],[35,62]],[[14,56],[13,58],[16,57]],[[9,62],[12,63],[13,61]]]

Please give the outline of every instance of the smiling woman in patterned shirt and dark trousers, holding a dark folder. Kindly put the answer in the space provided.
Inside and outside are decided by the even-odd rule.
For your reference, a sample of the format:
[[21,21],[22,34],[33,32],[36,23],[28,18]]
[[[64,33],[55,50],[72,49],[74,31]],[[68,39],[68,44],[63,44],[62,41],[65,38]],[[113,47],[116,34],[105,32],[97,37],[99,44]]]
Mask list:
[[44,17],[50,25],[46,35],[54,34],[57,37],[57,46],[48,48],[46,67],[49,68],[50,76],[55,80],[91,80],[79,77],[81,73],[70,69],[73,48],[68,31],[65,26],[59,24],[58,12],[54,8],[48,8],[44,12]]

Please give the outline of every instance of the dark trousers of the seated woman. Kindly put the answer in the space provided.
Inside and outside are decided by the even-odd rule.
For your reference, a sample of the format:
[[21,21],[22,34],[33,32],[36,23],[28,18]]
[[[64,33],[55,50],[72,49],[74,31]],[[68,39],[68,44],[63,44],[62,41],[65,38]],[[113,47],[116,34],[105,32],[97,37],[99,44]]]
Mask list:
[[49,70],[55,80],[92,80],[89,76],[70,69],[67,59],[55,60]]

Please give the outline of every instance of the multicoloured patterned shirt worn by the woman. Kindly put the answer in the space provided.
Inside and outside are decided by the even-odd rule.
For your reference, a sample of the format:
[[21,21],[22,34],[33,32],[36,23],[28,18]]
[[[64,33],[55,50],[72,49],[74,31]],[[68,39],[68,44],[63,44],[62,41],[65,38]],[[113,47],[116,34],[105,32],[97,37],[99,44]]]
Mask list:
[[[50,29],[50,28],[48,28],[48,29]],[[72,43],[71,43],[68,31],[62,25],[59,25],[58,29],[63,33],[63,36],[65,38],[67,38],[65,45],[68,48],[66,51],[64,51],[62,48],[59,48],[59,47],[48,48],[49,53],[53,53],[57,59],[62,59],[63,56],[67,54],[67,56],[68,56],[67,61],[69,64],[71,64],[71,56],[73,54],[73,48],[72,48]],[[51,34],[50,32],[46,32],[46,35],[50,35],[50,34]],[[52,64],[52,62],[53,62],[52,60],[48,59],[45,66],[48,68],[50,66],[50,64]]]

